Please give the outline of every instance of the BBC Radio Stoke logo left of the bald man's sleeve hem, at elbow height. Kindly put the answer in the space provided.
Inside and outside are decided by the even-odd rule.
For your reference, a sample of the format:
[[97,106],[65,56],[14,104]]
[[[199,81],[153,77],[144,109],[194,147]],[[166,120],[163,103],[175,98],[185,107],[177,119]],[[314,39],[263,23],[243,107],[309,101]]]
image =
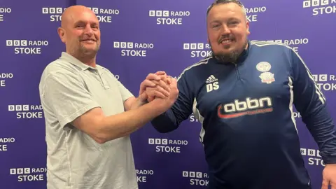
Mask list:
[[16,112],[17,119],[43,118],[41,105],[8,105],[8,111]]

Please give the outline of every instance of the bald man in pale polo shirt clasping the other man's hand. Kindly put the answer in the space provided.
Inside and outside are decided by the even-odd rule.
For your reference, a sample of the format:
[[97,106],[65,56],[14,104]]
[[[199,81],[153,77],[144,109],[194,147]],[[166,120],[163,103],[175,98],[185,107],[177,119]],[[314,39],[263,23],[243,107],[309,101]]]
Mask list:
[[[67,8],[57,31],[66,52],[46,66],[39,85],[47,188],[138,188],[129,135],[172,106],[178,96],[176,80],[166,84],[149,74],[135,98],[113,73],[96,64],[99,22],[85,6]],[[148,86],[156,88],[146,91]],[[146,103],[153,95],[160,98]]]

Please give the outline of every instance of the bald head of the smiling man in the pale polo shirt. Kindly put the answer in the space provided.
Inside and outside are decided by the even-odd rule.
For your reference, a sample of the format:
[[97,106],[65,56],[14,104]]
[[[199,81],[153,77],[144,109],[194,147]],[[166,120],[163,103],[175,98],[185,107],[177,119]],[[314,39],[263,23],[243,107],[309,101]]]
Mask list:
[[59,37],[66,52],[83,63],[94,59],[100,47],[100,29],[97,16],[85,6],[70,6],[62,14]]

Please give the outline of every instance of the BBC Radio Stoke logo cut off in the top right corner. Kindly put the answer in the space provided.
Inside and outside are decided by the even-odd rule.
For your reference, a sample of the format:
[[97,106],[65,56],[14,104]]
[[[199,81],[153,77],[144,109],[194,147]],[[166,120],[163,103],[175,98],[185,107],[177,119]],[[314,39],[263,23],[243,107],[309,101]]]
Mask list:
[[312,8],[312,15],[326,15],[336,13],[336,0],[307,0],[303,1],[303,8]]

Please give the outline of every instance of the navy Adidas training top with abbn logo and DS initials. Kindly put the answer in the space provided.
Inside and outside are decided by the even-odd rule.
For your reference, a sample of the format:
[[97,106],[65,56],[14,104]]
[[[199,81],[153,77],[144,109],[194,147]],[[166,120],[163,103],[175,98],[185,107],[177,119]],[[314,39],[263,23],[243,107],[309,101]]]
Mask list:
[[152,121],[170,132],[194,113],[209,165],[209,188],[307,189],[293,105],[325,163],[336,163],[336,132],[325,97],[288,45],[248,41],[237,64],[209,56],[178,78],[179,98]]

